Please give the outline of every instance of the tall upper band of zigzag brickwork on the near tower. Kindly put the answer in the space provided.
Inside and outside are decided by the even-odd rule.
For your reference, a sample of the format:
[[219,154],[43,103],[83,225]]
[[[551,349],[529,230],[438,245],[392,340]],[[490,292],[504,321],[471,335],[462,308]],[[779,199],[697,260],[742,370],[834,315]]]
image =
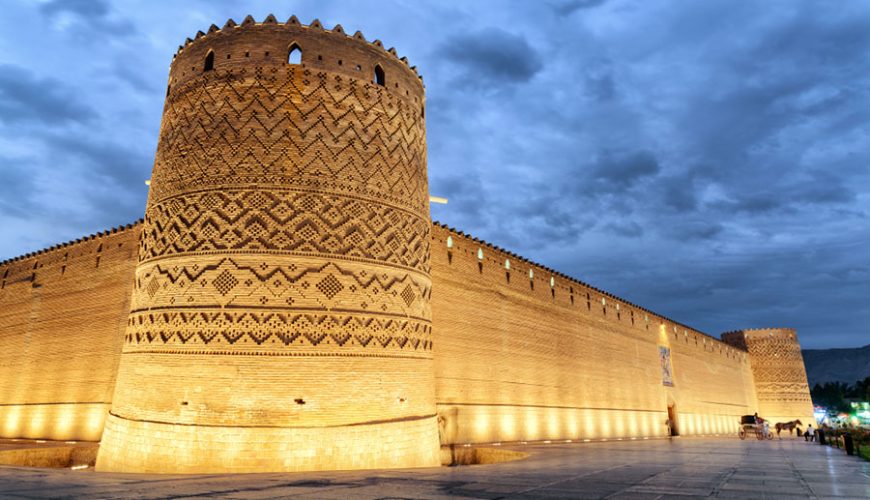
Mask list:
[[216,69],[167,99],[152,198],[296,186],[428,212],[418,107],[372,82],[299,65]]

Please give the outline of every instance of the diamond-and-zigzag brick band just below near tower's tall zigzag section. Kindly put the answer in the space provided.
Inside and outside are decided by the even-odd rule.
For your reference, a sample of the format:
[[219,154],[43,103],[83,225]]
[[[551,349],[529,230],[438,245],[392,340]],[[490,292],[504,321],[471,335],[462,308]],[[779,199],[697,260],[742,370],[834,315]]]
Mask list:
[[288,190],[208,191],[151,205],[140,259],[245,249],[329,254],[428,273],[430,223],[356,198]]

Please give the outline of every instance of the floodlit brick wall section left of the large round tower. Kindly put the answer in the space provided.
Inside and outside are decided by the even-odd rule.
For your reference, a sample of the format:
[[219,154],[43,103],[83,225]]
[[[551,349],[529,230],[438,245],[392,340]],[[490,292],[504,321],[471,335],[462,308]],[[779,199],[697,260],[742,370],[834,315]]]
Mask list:
[[100,439],[139,229],[0,262],[0,436]]

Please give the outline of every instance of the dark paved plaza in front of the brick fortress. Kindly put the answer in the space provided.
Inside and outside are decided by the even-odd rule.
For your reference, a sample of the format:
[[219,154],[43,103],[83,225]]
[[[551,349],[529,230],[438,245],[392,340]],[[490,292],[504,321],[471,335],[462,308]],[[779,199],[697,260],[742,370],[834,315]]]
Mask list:
[[[508,448],[508,447],[506,447]],[[870,462],[803,440],[541,444],[414,470],[160,476],[0,467],[3,498],[870,498]]]

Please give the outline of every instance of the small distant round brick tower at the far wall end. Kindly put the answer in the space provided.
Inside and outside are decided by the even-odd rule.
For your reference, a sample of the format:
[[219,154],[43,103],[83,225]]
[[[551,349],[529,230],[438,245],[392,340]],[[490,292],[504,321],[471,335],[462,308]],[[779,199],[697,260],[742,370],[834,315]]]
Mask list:
[[793,328],[759,328],[722,334],[722,340],[749,352],[758,414],[772,423],[799,419],[815,423],[807,372]]

